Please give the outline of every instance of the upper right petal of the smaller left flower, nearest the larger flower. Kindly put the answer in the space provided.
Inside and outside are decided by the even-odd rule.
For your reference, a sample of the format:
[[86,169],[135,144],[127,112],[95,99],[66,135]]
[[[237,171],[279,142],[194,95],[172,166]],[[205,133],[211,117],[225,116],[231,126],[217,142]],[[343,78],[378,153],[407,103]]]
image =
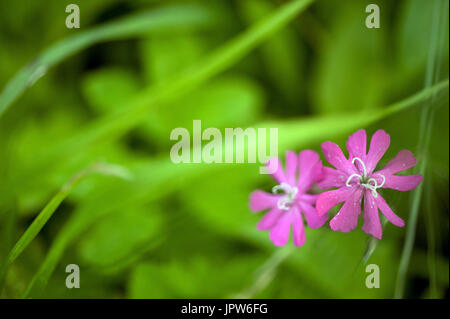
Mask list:
[[298,161],[300,166],[298,188],[300,191],[307,191],[315,182],[322,179],[322,162],[319,154],[311,150],[301,151]]

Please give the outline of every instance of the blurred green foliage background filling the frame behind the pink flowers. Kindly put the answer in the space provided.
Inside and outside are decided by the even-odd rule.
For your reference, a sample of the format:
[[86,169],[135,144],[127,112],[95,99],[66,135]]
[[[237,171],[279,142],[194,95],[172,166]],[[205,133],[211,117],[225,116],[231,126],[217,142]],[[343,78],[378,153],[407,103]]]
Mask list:
[[[64,25],[71,1],[1,2],[0,87],[12,83],[0,97],[1,263],[90,163],[133,178],[86,176],[11,265],[0,296],[391,298],[405,229],[384,228],[368,261],[381,287],[367,289],[370,239],[360,227],[308,229],[304,247],[274,247],[248,209],[252,190],[273,186],[259,164],[177,165],[169,135],[194,119],[278,127],[282,156],[382,128],[391,135],[384,164],[405,148],[423,155],[425,105],[435,120],[405,297],[447,296],[448,82],[432,100],[430,91],[405,99],[424,87],[430,47],[433,84],[448,78],[448,7],[441,46],[430,41],[439,0],[377,1],[381,28],[368,29],[372,2],[79,0],[80,30]],[[411,195],[383,196],[408,224]],[[81,288],[69,290],[73,263]]]

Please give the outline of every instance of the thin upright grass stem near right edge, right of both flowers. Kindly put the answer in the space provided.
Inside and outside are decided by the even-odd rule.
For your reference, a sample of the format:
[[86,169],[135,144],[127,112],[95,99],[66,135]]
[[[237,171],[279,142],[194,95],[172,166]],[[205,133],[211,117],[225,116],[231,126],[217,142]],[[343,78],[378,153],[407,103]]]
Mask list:
[[[444,7],[444,10],[442,10],[442,7]],[[425,88],[429,88],[433,82],[437,82],[438,76],[439,76],[439,54],[440,51],[442,51],[443,47],[443,36],[442,34],[445,34],[446,24],[447,24],[447,18],[448,17],[448,2],[444,1],[436,1],[434,4],[434,10],[433,10],[433,26],[432,26],[432,32],[430,37],[430,49],[429,49],[429,55],[428,55],[428,63],[427,63],[427,72],[425,76]],[[440,22],[440,24],[439,24]],[[441,34],[441,37],[439,38],[439,34]],[[437,66],[436,66],[436,60],[438,60]],[[435,95],[431,95],[430,99],[426,101],[423,110],[422,110],[422,117],[421,117],[421,125],[420,125],[420,137],[419,137],[419,143],[418,143],[418,165],[417,165],[417,172],[418,174],[421,174],[427,179],[425,176],[426,168],[427,168],[427,162],[428,162],[428,145],[431,138],[431,130],[432,130],[432,124],[433,124],[433,117],[434,117],[434,108],[432,108],[432,104],[435,101]],[[398,275],[397,275],[397,282],[395,287],[395,298],[403,298],[404,291],[405,291],[405,283],[406,283],[406,276],[408,272],[408,266],[411,259],[411,254],[414,246],[414,239],[416,234],[416,226],[417,226],[417,219],[419,215],[419,208],[421,203],[421,197],[423,192],[423,185],[426,182],[422,182],[411,194],[412,201],[411,201],[411,210],[409,214],[408,219],[408,226],[406,230],[406,238],[405,238],[405,244],[403,247],[402,256],[400,259],[400,265],[398,268]],[[434,235],[433,235],[434,236]]]

